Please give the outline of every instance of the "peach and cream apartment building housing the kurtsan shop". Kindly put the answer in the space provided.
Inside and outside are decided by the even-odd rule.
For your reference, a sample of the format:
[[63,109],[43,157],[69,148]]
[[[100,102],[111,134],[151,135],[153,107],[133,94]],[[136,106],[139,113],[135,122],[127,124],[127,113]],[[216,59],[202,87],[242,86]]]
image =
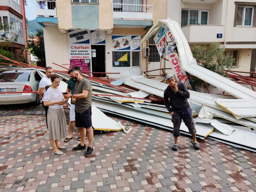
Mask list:
[[[37,0],[44,26],[46,65],[56,70],[78,65],[93,72],[142,74],[148,69],[148,43],[141,37],[166,19],[167,0]],[[146,50],[144,56],[144,49]],[[157,53],[157,52],[156,52]],[[160,60],[157,68],[160,68]]]

